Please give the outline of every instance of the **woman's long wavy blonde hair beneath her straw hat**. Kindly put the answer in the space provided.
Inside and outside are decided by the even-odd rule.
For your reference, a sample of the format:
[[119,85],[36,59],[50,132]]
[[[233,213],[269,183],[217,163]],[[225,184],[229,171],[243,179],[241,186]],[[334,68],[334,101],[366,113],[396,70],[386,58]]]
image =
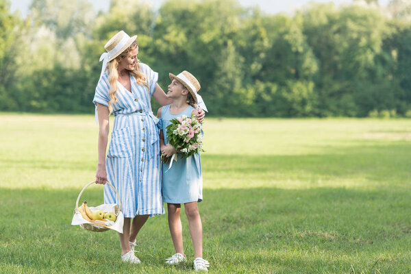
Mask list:
[[[118,101],[116,92],[117,92],[117,79],[119,79],[119,62],[126,58],[130,51],[136,49],[138,47],[138,42],[134,41],[132,45],[130,45],[125,51],[123,51],[119,56],[114,58],[108,63],[108,82],[110,82],[110,90],[108,91],[108,95],[110,95],[110,101],[108,102],[108,110],[110,113],[113,112],[113,103]],[[144,85],[149,90],[149,84],[147,84],[147,76],[142,73],[140,70],[140,64],[137,62],[136,66],[134,66],[134,71],[129,71],[131,75],[136,78],[136,82],[139,85]]]

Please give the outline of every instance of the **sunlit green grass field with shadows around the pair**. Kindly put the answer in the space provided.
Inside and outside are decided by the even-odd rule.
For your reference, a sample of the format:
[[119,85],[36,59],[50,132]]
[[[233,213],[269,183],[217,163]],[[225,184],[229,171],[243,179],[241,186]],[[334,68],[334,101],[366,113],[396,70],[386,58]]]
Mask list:
[[[411,120],[206,119],[210,273],[411,273]],[[115,232],[71,225],[95,177],[93,116],[0,114],[0,273],[190,273],[166,216],[124,264]],[[101,186],[82,196],[102,203]]]

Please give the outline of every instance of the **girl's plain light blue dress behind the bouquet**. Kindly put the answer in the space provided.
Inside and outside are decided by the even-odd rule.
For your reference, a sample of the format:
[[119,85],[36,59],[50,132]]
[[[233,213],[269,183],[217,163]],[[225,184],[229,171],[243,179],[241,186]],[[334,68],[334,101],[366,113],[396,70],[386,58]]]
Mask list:
[[[188,106],[184,112],[171,114],[170,105],[162,107],[160,128],[163,130],[164,143],[167,145],[166,127],[171,124],[171,119],[179,116],[191,116],[194,110]],[[169,169],[169,164],[162,163],[162,197],[166,203],[189,203],[203,200],[203,177],[201,173],[200,155],[195,154],[183,158],[177,153],[177,162]]]

